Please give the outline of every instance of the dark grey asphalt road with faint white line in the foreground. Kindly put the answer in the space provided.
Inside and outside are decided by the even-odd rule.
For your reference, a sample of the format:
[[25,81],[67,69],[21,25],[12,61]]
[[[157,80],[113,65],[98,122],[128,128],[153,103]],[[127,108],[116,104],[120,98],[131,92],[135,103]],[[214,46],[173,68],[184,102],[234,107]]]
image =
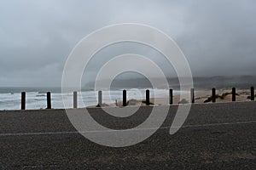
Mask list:
[[[158,106],[160,114],[166,107]],[[127,118],[89,111],[102,125],[123,129],[142,123],[151,109]],[[0,169],[256,168],[256,102],[192,105],[183,127],[170,135],[176,111],[170,106],[156,133],[123,148],[85,139],[64,110],[0,111]]]

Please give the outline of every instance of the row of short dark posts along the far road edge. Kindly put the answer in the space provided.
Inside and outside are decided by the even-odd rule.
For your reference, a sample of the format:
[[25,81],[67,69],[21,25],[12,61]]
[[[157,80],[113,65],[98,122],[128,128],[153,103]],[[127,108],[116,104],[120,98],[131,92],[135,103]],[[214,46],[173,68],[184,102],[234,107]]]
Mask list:
[[[47,92],[47,107],[51,109],[51,97],[50,92]],[[212,103],[216,102],[216,89],[212,88]],[[123,90],[123,106],[127,105],[126,90]],[[251,87],[251,100],[254,100],[254,88]],[[232,88],[232,101],[236,101],[236,88]],[[190,89],[190,103],[195,103],[195,89]],[[98,91],[98,105],[102,105],[102,91]],[[146,105],[150,105],[149,90],[146,90]],[[169,90],[169,105],[173,105],[173,90]],[[78,108],[78,92],[73,92],[73,108]],[[26,92],[21,92],[21,110],[26,110]]]

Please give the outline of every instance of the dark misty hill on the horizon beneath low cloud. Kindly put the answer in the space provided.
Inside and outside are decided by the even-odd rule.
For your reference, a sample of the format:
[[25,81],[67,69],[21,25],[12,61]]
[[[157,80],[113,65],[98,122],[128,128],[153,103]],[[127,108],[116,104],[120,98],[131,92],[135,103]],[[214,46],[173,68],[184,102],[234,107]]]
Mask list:
[[[158,88],[164,88],[162,80],[154,78],[158,82]],[[177,77],[167,78],[170,88],[179,88]],[[240,77],[194,77],[194,87],[201,89],[211,88],[250,88],[256,86],[256,76],[240,76]],[[104,84],[106,81],[100,82]],[[84,85],[84,89],[94,89],[95,82],[88,82]],[[107,87],[101,87],[102,89]],[[147,78],[130,78],[130,79],[114,79],[111,85],[113,89],[123,88],[152,88]]]

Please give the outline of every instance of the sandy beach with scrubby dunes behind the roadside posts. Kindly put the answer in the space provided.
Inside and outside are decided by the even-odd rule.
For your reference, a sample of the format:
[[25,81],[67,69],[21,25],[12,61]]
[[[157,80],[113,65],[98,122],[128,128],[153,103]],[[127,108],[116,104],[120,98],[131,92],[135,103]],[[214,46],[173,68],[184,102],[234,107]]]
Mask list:
[[[187,94],[187,99],[180,99],[180,96],[178,93],[180,93],[178,90],[173,90],[173,104],[172,105],[178,105],[178,104],[187,104],[190,103],[190,94],[189,91],[186,91],[184,93]],[[232,102],[232,94],[231,94],[231,89],[228,88],[220,88],[216,89],[216,103],[226,103],[226,102]],[[154,93],[152,93],[154,94]],[[236,88],[236,101],[251,101],[250,95],[251,95],[251,90],[246,89],[246,88]],[[121,94],[120,94],[121,95]],[[254,94],[255,98],[256,95]],[[201,88],[201,89],[195,89],[195,104],[199,103],[212,103],[212,91],[206,88]],[[165,93],[158,94],[155,98],[150,98],[150,105],[169,105],[169,95],[168,95],[168,90],[166,90]],[[67,109],[72,109],[73,104],[70,104],[70,107]],[[126,106],[131,106],[131,105],[146,105],[145,104],[145,99],[127,99],[127,105]],[[46,106],[46,105],[45,105]],[[85,106],[86,108],[96,108],[97,105],[87,105]],[[122,99],[118,99],[117,102],[103,102],[102,107],[123,107],[123,101]],[[79,107],[83,108],[83,107]],[[52,107],[52,109],[58,110],[58,109],[65,109],[64,107]],[[41,107],[38,109],[26,109],[26,110],[46,110],[45,107]],[[15,109],[4,109],[0,111],[20,111],[20,108],[15,108]]]

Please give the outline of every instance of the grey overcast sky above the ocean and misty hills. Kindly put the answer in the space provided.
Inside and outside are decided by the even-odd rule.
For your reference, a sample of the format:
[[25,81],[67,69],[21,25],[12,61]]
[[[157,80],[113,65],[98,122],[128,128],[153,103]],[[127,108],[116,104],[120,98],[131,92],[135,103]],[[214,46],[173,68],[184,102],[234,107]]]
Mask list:
[[[83,37],[131,22],[172,37],[193,76],[255,75],[255,16],[254,0],[0,0],[0,86],[61,86],[67,56]],[[132,47],[112,54],[138,51]]]

